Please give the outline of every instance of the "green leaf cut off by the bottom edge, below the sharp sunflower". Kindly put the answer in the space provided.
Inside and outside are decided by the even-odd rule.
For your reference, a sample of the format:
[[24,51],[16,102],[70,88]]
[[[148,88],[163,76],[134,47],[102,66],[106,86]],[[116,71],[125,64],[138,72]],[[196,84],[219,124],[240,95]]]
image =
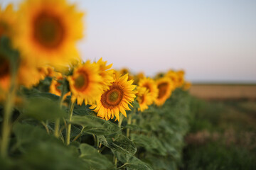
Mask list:
[[84,160],[88,169],[114,169],[112,162],[110,162],[103,154],[100,154],[94,147],[87,144],[81,144],[80,152],[80,158]]

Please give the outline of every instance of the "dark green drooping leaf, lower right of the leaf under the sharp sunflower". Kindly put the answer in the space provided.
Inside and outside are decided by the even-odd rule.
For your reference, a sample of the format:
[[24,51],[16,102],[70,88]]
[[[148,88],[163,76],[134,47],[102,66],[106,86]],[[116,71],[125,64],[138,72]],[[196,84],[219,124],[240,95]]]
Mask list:
[[132,140],[129,140],[129,138],[124,135],[117,135],[117,137],[114,138],[105,138],[105,136],[102,135],[98,137],[102,145],[105,145],[114,151],[122,152],[125,154],[135,154],[137,152],[137,148]]

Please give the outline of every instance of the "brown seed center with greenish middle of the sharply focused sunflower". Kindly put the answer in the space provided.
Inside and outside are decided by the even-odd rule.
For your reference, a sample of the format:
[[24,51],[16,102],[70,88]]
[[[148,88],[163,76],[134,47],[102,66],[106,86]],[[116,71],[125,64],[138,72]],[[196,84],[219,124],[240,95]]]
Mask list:
[[106,91],[101,96],[101,103],[105,108],[114,108],[119,105],[124,96],[124,91],[120,86],[114,84],[110,87],[110,90]]

